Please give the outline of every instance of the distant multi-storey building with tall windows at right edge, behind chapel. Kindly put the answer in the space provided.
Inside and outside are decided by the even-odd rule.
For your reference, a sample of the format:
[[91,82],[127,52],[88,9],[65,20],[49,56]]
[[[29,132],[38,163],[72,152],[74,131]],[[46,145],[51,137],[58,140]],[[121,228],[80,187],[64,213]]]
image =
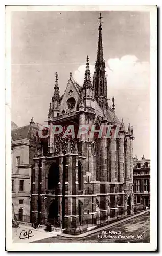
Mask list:
[[150,207],[150,159],[133,158],[134,205]]

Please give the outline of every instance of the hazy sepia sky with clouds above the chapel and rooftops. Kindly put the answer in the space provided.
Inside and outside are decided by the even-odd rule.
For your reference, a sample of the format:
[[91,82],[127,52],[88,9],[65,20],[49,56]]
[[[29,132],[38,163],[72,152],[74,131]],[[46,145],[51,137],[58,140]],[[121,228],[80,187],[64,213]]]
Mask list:
[[[82,86],[86,57],[91,77],[97,57],[98,11],[13,12],[11,22],[12,121],[43,124],[58,72],[60,94],[70,72]],[[150,14],[102,11],[108,104],[125,127],[133,125],[133,154],[150,158]]]

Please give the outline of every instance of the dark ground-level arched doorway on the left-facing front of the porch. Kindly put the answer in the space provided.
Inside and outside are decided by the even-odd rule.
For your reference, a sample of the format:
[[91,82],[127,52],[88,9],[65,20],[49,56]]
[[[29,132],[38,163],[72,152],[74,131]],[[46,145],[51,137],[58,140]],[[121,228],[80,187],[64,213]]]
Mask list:
[[58,201],[55,199],[49,206],[48,222],[54,226],[58,226]]

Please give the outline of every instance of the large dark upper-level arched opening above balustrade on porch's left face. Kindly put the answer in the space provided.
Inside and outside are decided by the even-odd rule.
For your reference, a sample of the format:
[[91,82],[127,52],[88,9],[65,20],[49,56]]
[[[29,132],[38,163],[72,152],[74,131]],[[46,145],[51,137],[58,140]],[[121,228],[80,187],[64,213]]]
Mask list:
[[59,182],[59,166],[56,163],[51,164],[48,172],[48,182],[47,182],[47,189],[55,190],[58,187]]

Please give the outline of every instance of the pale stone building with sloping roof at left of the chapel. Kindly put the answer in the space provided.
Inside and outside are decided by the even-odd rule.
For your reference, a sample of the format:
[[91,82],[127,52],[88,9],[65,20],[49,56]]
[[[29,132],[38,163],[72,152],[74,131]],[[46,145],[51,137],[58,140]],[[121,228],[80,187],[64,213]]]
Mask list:
[[41,149],[40,125],[34,123],[12,129],[12,218],[31,221],[31,173],[35,147]]

